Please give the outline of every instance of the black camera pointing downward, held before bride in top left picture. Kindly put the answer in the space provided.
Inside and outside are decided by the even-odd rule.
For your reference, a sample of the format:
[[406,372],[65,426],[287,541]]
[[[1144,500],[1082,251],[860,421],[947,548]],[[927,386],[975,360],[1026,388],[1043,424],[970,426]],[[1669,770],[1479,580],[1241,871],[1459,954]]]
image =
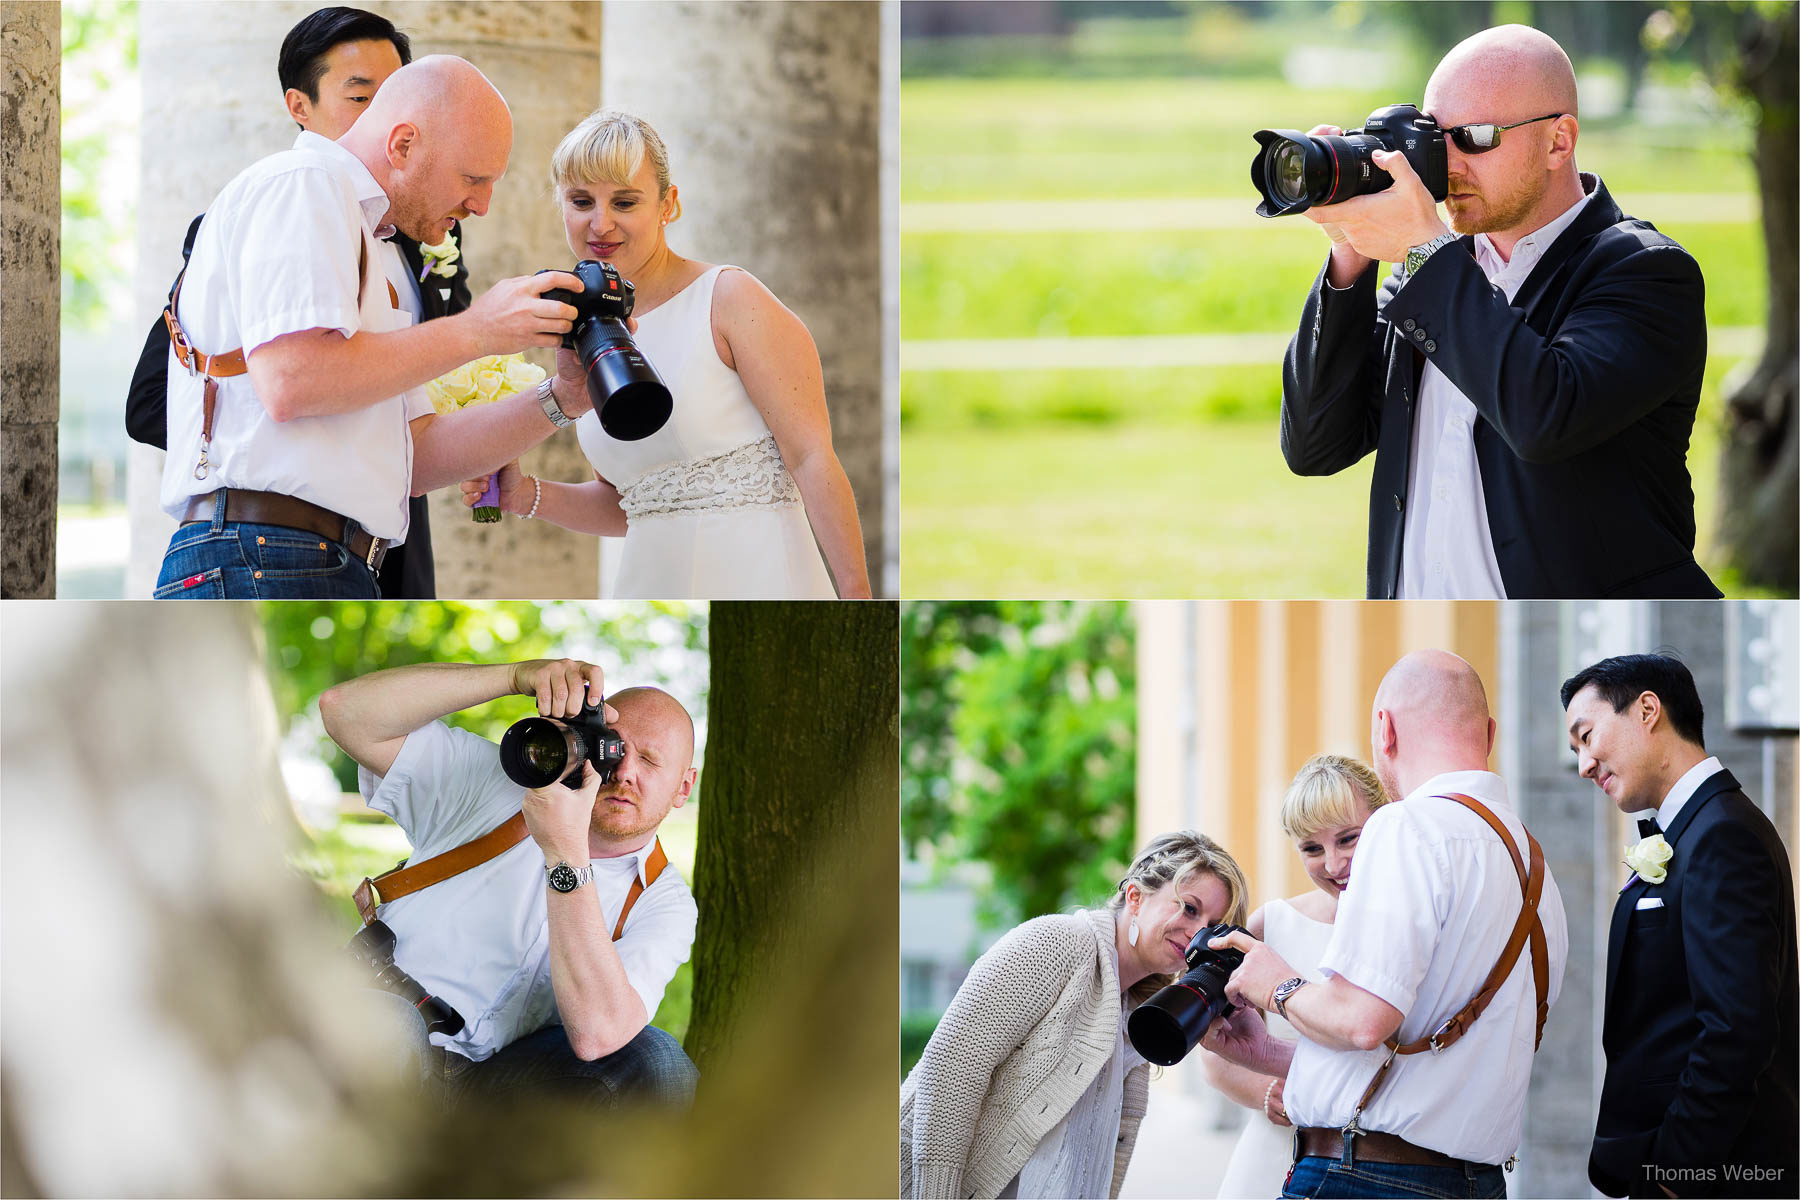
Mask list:
[[563,347],[581,356],[599,428],[619,441],[650,437],[668,423],[675,399],[625,327],[635,288],[612,263],[576,263],[569,273],[581,279],[583,290],[551,288],[544,299],[562,300],[580,313],[563,335]]

